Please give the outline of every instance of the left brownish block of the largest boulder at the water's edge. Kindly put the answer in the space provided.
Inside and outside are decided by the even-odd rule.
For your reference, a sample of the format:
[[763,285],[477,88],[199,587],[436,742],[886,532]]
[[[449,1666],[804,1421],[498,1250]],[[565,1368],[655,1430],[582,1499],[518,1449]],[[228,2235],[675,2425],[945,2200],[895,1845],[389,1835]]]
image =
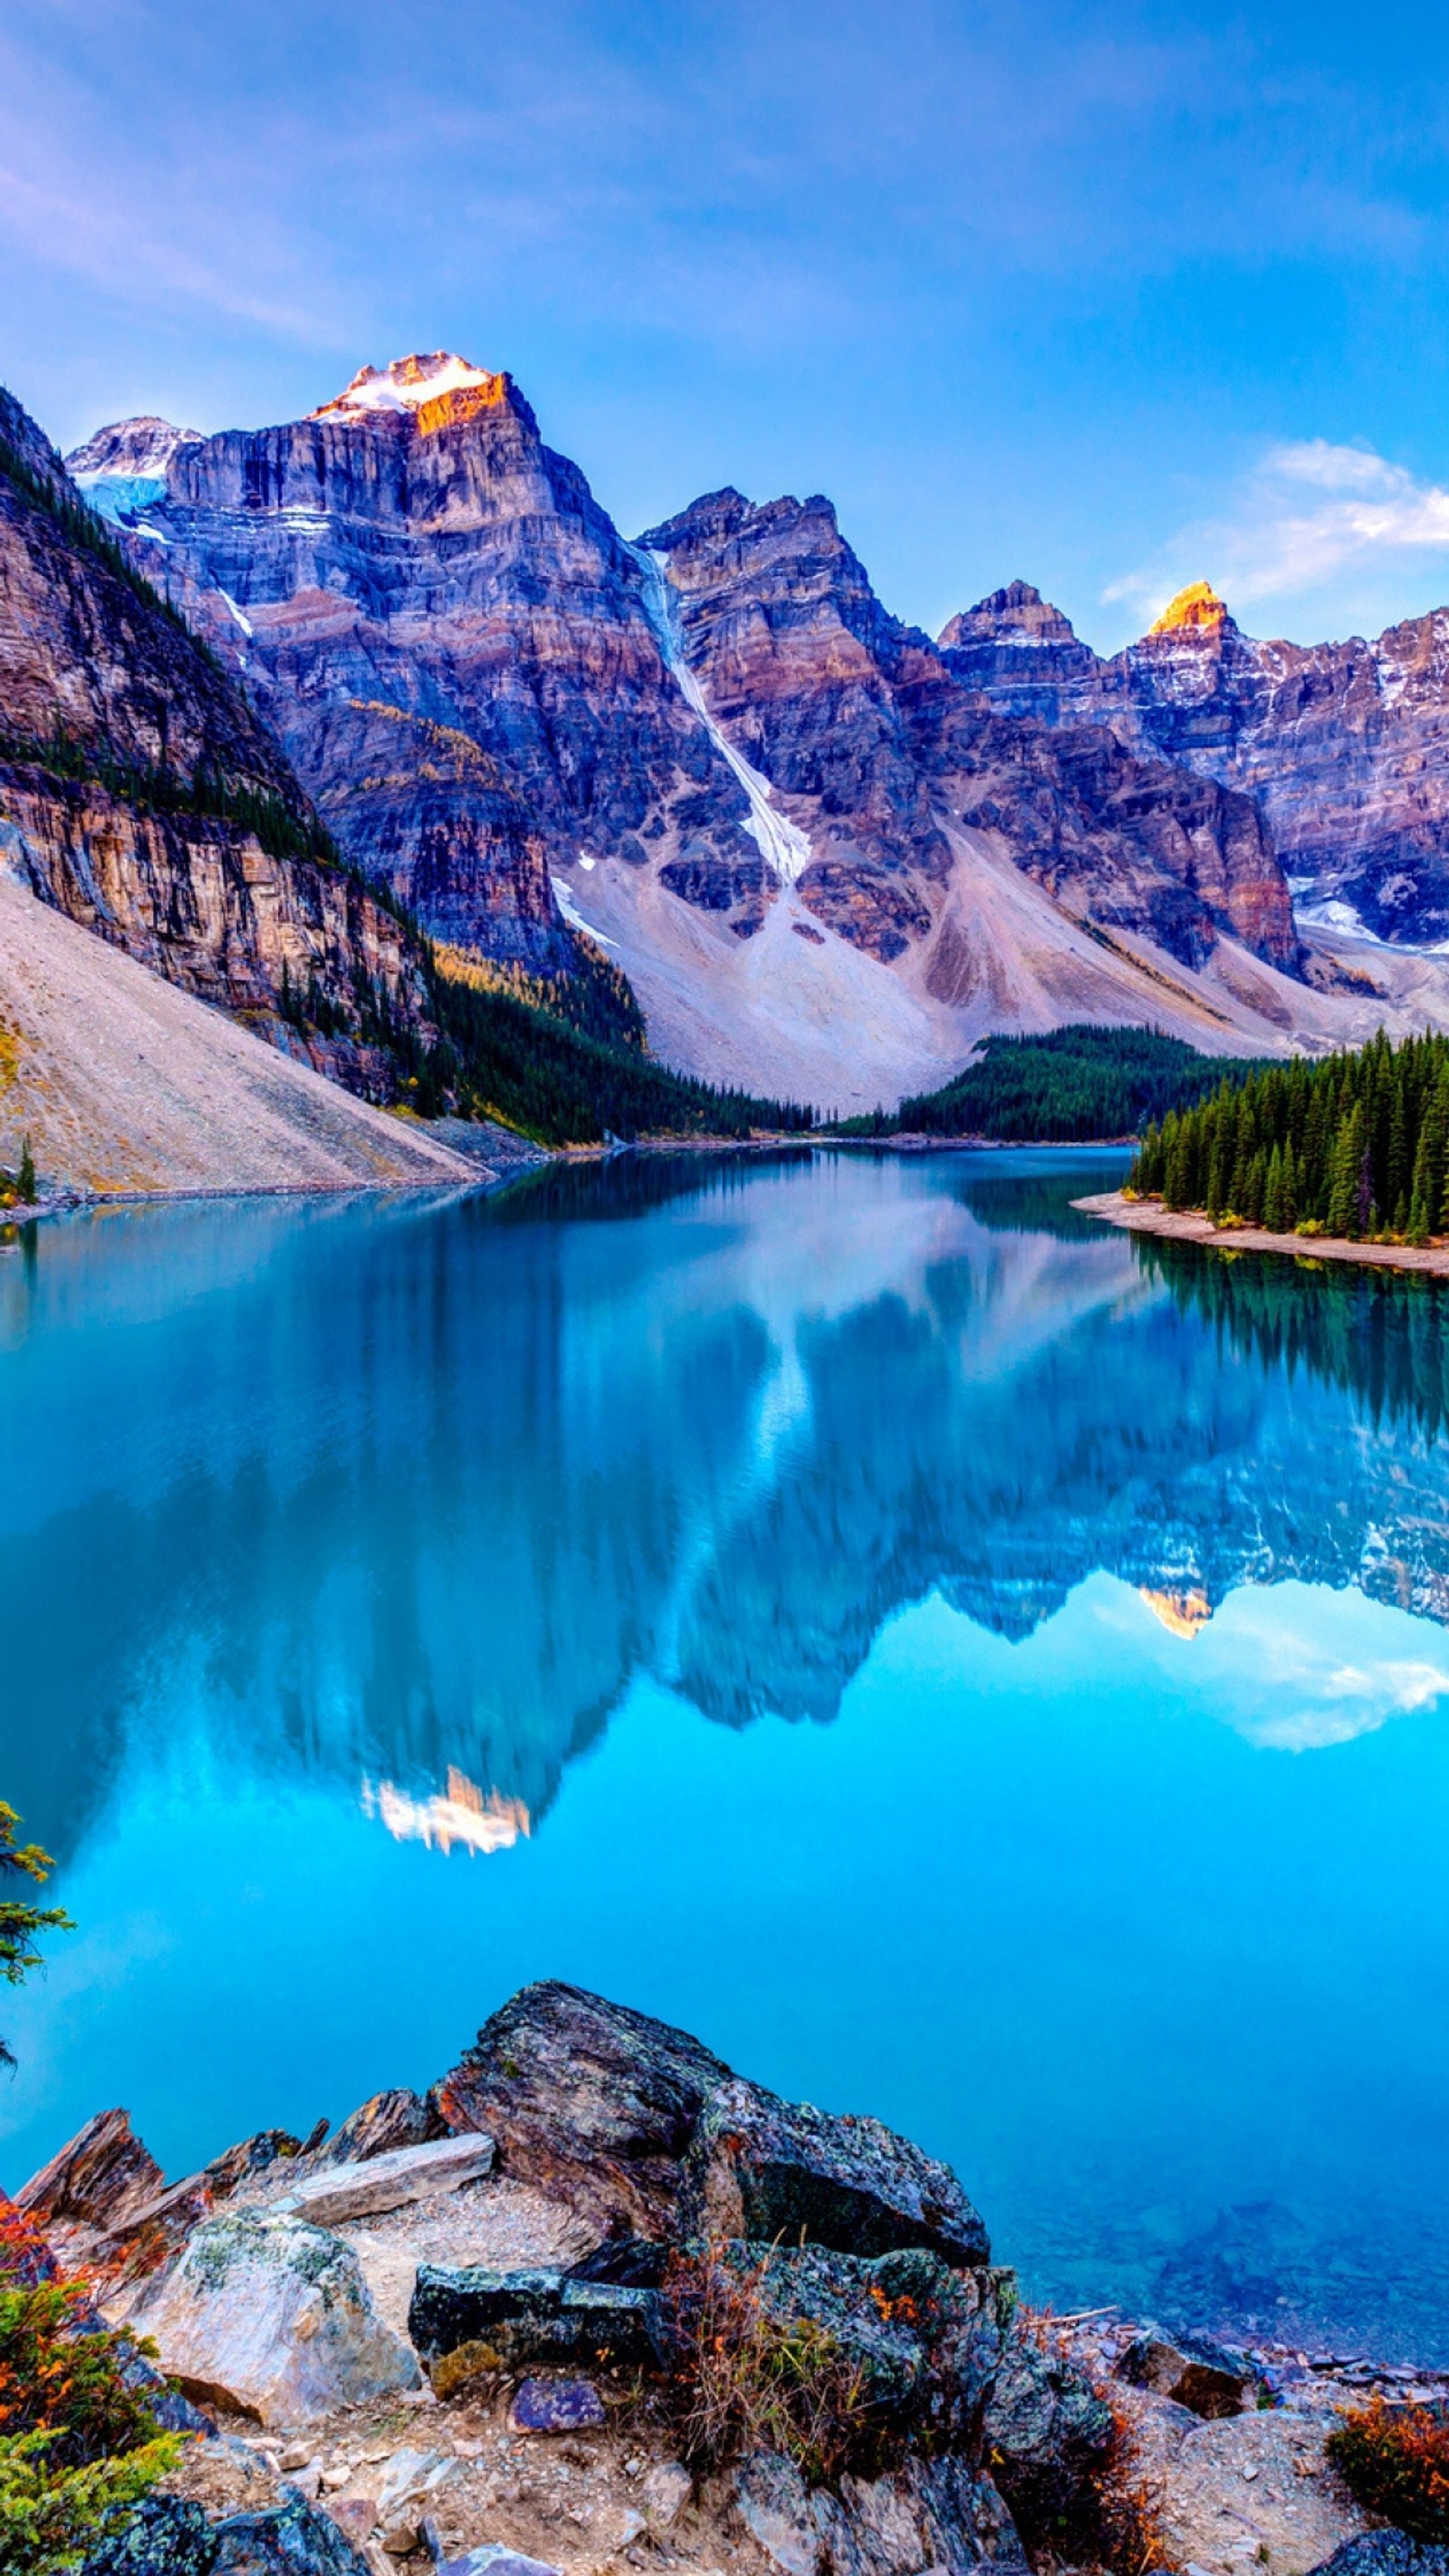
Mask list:
[[515,1994],[438,2084],[453,2130],[486,2130],[507,2174],[600,2231],[669,2236],[679,2159],[728,2066],[700,2040],[579,1986]]

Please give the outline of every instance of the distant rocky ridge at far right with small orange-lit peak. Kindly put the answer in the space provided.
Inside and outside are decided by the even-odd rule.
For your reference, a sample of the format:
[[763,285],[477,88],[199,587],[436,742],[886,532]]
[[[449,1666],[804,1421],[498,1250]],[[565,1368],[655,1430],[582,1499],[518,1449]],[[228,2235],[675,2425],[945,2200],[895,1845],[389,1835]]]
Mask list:
[[1197,582],[1099,662],[1027,582],[952,618],[942,654],[1006,714],[1096,724],[1261,804],[1307,917],[1449,938],[1449,611],[1367,644],[1259,644]]

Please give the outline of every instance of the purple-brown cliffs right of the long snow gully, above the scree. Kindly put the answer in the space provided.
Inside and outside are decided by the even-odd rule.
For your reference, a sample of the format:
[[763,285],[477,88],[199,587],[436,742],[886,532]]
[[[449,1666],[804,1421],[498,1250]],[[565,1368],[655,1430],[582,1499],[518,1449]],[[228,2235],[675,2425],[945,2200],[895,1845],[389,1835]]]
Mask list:
[[[1295,966],[1289,894],[1248,799],[1102,726],[1058,734],[1029,693],[1004,716],[983,706],[950,652],[880,608],[826,500],[715,492],[641,544],[667,556],[710,711],[808,837],[803,902],[844,938],[878,958],[927,940],[965,824],[1071,912],[1186,966],[1223,933]],[[1084,647],[1032,603],[1040,649],[1076,667]]]

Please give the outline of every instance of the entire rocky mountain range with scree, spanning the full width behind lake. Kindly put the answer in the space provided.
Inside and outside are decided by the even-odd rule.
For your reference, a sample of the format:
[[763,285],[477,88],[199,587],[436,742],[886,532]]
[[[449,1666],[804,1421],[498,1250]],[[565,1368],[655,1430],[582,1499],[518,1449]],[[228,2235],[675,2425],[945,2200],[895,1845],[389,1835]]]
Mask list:
[[260,904],[237,814],[201,866],[165,819],[98,840],[95,778],[10,773],[31,884],[263,1015],[317,914],[322,1012],[291,1020],[342,1079],[358,976],[386,963],[427,1020],[399,907],[525,979],[602,951],[664,1064],[826,1110],[932,1090],[986,1030],[1246,1054],[1449,1020],[1449,611],[1305,649],[1197,585],[1102,659],[1011,582],[932,641],[818,495],[723,489],[625,538],[512,376],[450,353],[281,428],[116,422],[64,471],[18,404],[0,433],[190,652],[167,672],[131,611],[90,652],[31,533],[23,580],[0,564],[10,752],[33,773],[106,734],[113,762],[250,781],[301,835]]

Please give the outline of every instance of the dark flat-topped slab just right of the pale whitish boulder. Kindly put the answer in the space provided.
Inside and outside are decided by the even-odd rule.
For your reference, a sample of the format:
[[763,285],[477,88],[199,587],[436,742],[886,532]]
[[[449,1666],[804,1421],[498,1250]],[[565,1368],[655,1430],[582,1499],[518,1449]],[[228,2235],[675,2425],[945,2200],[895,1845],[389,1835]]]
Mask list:
[[654,2290],[571,2280],[566,2272],[489,2272],[420,2264],[407,2331],[425,2362],[489,2344],[507,2367],[587,2370],[659,2365],[667,2329]]

